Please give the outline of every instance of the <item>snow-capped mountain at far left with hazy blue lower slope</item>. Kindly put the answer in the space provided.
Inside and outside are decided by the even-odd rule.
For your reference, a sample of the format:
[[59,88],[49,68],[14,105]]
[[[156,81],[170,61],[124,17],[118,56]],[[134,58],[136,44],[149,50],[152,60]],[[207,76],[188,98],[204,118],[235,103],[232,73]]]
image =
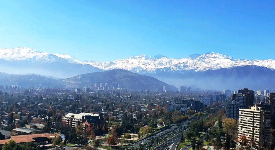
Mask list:
[[102,70],[67,54],[50,54],[23,47],[0,48],[0,72],[66,78],[98,71]]

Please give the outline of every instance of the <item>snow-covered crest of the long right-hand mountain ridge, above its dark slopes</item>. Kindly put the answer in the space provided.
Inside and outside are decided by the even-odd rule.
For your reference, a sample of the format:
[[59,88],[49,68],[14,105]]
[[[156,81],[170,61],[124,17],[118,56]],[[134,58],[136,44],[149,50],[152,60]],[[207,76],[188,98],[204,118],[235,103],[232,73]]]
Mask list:
[[[221,68],[234,68],[245,65],[264,66],[275,69],[275,60],[240,60],[230,56],[211,52],[203,55],[193,54],[186,58],[174,59],[158,55],[132,56],[111,62],[90,62],[89,64],[103,70],[124,69],[137,73],[155,73],[156,71],[207,71]],[[161,57],[160,57],[161,56]]]

